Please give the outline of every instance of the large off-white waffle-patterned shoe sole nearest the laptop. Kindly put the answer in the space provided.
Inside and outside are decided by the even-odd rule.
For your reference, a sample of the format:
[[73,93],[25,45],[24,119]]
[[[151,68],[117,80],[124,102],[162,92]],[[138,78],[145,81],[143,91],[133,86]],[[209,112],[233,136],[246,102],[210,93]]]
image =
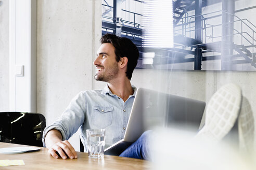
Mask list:
[[241,98],[241,89],[235,84],[226,84],[217,90],[206,107],[206,121],[196,138],[221,140],[236,122]]

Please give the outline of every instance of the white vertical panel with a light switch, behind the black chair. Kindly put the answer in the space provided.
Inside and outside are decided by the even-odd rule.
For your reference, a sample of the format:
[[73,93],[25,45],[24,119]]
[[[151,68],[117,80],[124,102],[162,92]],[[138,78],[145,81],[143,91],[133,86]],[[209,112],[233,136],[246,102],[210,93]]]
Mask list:
[[36,1],[9,1],[9,110],[36,112]]

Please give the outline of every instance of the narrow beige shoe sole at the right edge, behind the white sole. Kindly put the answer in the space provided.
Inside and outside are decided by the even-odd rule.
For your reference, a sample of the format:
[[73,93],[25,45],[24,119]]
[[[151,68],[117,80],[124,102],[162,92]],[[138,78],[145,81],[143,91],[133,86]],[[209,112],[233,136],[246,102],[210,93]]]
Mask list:
[[254,118],[251,105],[245,96],[242,97],[242,106],[238,117],[239,147],[241,151],[251,152],[254,145]]

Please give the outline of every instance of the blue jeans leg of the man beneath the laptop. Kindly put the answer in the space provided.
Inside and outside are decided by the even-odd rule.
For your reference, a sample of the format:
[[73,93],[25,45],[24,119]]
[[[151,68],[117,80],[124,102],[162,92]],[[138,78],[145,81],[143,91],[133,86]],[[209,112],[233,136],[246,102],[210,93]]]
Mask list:
[[151,131],[144,132],[130,147],[125,149],[119,157],[151,160],[149,135]]

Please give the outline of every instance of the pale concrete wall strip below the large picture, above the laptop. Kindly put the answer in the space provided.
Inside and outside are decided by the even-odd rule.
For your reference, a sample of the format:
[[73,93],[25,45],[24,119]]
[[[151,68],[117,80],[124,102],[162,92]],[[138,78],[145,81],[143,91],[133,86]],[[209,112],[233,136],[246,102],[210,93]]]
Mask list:
[[[206,103],[217,89],[232,82],[240,86],[256,118],[255,76],[256,72],[135,69],[131,82],[136,87],[155,89]],[[95,86],[96,89],[101,87],[103,83]]]

